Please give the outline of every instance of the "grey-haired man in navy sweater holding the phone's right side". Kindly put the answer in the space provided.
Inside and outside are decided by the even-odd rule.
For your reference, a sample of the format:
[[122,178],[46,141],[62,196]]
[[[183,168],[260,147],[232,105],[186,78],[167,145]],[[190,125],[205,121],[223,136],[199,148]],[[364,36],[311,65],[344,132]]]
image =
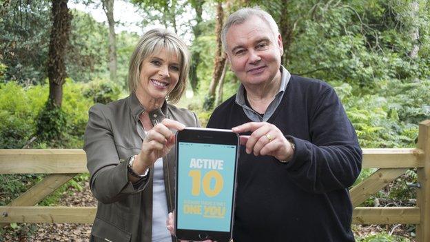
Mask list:
[[280,65],[278,26],[263,10],[230,15],[222,41],[241,85],[207,127],[241,135],[234,242],[354,241],[347,188],[362,152],[336,92]]

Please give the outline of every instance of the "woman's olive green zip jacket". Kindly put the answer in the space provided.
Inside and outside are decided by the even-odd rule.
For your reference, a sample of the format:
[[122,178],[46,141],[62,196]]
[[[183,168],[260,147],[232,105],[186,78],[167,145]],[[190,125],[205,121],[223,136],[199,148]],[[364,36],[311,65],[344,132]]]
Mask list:
[[[136,94],[89,111],[84,150],[90,188],[99,201],[90,241],[151,241],[152,169],[137,185],[128,180],[127,159],[141,151],[145,132],[139,115],[145,110]],[[164,118],[199,126],[193,112],[164,103],[150,112],[155,125]],[[174,208],[175,148],[163,157],[167,208]],[[166,218],[167,219],[167,218]]]

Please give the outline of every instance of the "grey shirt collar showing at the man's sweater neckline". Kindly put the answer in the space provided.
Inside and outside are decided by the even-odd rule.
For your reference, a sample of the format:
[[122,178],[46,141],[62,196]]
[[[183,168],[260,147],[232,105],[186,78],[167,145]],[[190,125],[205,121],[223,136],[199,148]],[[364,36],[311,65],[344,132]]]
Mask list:
[[247,115],[249,119],[251,119],[254,122],[266,122],[267,120],[272,117],[272,114],[275,112],[276,108],[278,108],[278,105],[280,103],[280,100],[284,97],[285,88],[287,88],[289,78],[291,77],[291,74],[289,74],[288,70],[285,69],[282,65],[280,66],[280,86],[278,93],[275,95],[272,102],[267,107],[266,112],[264,113],[264,116],[261,117],[258,112],[254,111],[251,107],[249,107],[246,104],[246,97],[245,97],[245,87],[243,84],[240,84],[238,88],[238,92],[236,94],[236,103],[240,105],[240,107],[243,108],[243,112]]

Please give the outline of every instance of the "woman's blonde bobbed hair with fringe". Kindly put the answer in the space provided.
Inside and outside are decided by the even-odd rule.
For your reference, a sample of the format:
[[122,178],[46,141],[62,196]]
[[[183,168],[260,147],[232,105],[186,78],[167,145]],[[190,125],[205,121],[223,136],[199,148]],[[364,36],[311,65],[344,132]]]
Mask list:
[[143,37],[137,43],[136,48],[130,58],[130,67],[128,68],[128,89],[130,93],[135,92],[137,85],[141,85],[140,73],[141,63],[146,58],[152,57],[161,50],[165,49],[168,53],[176,54],[180,68],[179,80],[176,86],[167,94],[166,99],[176,103],[181,99],[188,82],[188,72],[190,70],[191,58],[187,45],[179,37],[163,29],[154,29],[143,34]]

